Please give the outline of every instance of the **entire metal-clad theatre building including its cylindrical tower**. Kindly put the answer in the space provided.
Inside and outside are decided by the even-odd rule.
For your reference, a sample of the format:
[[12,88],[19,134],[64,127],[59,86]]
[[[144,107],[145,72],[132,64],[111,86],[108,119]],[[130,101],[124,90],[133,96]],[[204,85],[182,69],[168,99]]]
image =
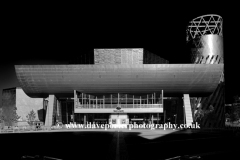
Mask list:
[[[203,23],[201,19],[209,17],[216,22],[214,27],[221,29],[222,19],[217,15],[201,16],[191,22]],[[85,58],[73,64],[15,65],[21,87],[18,89],[29,99],[38,99],[32,108],[43,111],[38,119],[46,126],[56,122],[191,124],[198,109],[209,110],[209,106],[214,108],[217,120],[203,119],[202,124],[222,126],[222,32],[201,32],[203,27],[199,26],[208,24],[194,28],[191,22],[187,29],[192,57],[189,64],[170,64],[143,48],[98,48],[93,56],[83,54]],[[194,30],[196,27],[200,29]],[[3,99],[3,103],[6,101]],[[17,104],[19,113],[22,106]]]

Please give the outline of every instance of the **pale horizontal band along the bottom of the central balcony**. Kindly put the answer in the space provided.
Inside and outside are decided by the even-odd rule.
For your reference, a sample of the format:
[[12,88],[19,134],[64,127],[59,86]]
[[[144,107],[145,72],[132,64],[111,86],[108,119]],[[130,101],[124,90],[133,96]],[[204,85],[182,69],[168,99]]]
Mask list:
[[78,105],[76,109],[111,109],[117,108],[120,106],[121,108],[162,108],[162,104],[84,104]]

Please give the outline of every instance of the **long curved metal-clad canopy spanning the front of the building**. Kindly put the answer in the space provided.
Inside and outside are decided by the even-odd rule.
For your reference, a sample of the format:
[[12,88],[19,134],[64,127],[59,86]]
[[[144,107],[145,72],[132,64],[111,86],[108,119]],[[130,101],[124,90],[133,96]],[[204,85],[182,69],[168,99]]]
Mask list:
[[16,65],[21,87],[31,97],[48,94],[210,94],[223,64]]

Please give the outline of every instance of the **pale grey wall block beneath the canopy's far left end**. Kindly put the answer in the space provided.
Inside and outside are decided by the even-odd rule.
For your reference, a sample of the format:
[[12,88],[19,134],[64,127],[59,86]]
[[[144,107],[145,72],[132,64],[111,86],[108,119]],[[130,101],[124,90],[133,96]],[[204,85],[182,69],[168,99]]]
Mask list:
[[36,113],[36,120],[43,121],[43,98],[30,98],[21,88],[17,88],[16,107],[17,114],[21,116],[20,121],[27,120],[26,116],[31,110]]

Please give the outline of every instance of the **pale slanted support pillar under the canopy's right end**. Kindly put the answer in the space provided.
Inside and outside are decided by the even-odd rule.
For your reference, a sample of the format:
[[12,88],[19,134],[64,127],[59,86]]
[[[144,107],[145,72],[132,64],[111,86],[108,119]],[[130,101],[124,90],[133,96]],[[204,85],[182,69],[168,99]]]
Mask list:
[[191,109],[189,94],[184,94],[183,102],[184,102],[186,124],[187,124],[187,126],[189,126],[189,125],[192,125],[192,122],[193,122],[192,109]]

